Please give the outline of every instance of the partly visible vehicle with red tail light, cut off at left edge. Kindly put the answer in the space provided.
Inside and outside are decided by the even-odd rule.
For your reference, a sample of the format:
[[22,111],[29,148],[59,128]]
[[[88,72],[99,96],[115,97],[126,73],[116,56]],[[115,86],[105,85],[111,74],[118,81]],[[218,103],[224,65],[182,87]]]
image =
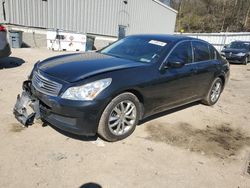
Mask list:
[[7,40],[6,28],[0,24],[0,58],[11,54],[10,45]]

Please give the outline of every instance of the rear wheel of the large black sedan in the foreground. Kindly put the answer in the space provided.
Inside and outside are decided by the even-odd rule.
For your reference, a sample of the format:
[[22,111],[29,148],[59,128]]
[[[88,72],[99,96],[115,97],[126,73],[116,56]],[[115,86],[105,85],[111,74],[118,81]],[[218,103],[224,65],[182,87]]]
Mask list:
[[217,77],[213,81],[206,97],[201,102],[208,106],[214,105],[219,100],[222,90],[223,82],[221,78]]

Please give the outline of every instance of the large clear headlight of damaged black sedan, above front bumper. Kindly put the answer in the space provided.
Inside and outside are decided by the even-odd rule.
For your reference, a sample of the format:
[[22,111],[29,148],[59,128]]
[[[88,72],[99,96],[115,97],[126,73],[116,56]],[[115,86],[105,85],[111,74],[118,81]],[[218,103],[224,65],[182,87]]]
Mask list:
[[111,82],[111,78],[106,78],[82,86],[70,87],[63,93],[62,98],[81,101],[93,100],[100,92],[107,88]]

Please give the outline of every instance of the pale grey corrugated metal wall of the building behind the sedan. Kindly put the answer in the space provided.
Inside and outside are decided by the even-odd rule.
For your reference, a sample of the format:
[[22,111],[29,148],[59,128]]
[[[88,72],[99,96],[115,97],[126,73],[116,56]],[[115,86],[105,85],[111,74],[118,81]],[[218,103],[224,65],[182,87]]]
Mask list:
[[5,0],[7,22],[80,33],[117,36],[127,33],[173,33],[176,13],[153,0]]

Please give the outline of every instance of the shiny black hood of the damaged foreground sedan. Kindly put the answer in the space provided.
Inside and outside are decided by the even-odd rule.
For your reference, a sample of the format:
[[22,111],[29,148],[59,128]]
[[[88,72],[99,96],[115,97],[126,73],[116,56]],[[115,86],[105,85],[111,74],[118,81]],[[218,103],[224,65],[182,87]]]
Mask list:
[[136,61],[87,52],[52,57],[37,66],[40,71],[52,77],[76,82],[97,74],[144,65]]

